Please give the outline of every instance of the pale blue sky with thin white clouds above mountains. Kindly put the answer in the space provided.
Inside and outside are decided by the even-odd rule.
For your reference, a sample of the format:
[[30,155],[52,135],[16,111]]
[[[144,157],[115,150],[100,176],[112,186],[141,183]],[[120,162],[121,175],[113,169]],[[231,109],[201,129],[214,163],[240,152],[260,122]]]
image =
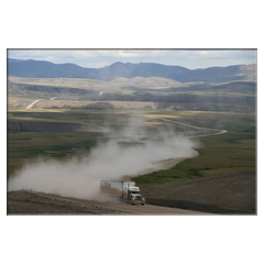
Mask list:
[[158,63],[189,69],[256,64],[256,50],[8,50],[9,58],[100,68],[116,62]]

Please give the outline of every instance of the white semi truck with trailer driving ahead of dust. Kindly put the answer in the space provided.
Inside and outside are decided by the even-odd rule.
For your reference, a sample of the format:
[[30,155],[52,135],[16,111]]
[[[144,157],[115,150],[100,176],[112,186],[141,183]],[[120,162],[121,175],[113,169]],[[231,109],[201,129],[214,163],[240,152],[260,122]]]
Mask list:
[[136,187],[134,182],[101,180],[100,189],[102,194],[119,196],[131,205],[145,205],[140,187]]

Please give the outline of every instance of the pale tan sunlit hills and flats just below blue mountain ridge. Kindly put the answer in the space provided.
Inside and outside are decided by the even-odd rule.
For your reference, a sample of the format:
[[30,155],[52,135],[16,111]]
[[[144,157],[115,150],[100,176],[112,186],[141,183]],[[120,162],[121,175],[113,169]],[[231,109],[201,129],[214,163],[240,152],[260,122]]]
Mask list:
[[34,100],[42,99],[34,107],[256,111],[256,84],[253,81],[190,85],[158,77],[118,80],[120,82],[9,77],[8,107],[25,108]]

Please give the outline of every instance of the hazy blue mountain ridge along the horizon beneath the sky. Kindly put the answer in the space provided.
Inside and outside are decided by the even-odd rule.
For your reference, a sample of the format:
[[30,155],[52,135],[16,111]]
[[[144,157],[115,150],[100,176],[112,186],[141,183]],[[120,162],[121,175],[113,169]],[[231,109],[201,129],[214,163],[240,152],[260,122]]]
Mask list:
[[155,63],[114,63],[103,68],[84,68],[76,64],[54,64],[45,61],[8,58],[8,76],[26,78],[85,78],[114,80],[117,78],[161,77],[180,82],[228,82],[255,80],[256,65],[234,65],[188,69]]

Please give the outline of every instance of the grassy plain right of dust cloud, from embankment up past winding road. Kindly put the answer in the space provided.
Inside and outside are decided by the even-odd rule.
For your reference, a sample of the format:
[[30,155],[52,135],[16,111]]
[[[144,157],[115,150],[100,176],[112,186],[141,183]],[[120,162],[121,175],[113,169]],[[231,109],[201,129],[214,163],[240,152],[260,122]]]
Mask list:
[[228,130],[228,133],[199,138],[201,147],[197,148],[197,157],[185,160],[170,169],[134,178],[140,187],[256,169],[255,114],[178,111],[153,112],[147,116]]

